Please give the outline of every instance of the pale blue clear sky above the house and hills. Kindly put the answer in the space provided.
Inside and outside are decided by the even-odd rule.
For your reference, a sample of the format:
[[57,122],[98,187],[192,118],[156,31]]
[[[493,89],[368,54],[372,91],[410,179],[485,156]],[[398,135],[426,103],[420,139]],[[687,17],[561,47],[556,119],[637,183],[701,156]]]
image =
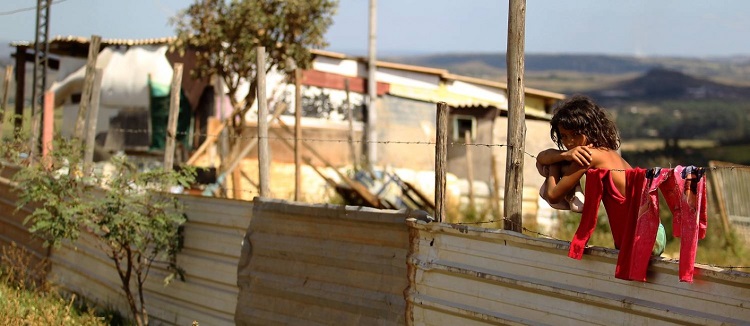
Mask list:
[[[366,55],[370,0],[340,0],[326,50]],[[54,0],[50,36],[174,35],[192,0]],[[527,0],[527,53],[750,56],[747,0]],[[0,1],[0,40],[34,39],[36,1]],[[30,10],[29,10],[30,9]],[[508,0],[378,0],[377,55],[505,52]]]

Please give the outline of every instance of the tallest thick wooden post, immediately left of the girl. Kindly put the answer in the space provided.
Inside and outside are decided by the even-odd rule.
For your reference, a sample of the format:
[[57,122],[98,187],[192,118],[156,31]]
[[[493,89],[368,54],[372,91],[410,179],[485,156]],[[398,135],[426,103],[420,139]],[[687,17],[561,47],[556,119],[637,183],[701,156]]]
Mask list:
[[521,232],[523,203],[524,120],[524,39],[526,0],[510,0],[508,9],[508,158],[505,164],[504,229]]

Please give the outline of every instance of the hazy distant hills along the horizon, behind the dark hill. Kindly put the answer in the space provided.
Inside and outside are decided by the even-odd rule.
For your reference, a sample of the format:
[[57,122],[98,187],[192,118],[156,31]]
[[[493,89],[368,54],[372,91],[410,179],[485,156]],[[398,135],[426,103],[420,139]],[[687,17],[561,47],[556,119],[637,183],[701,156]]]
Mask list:
[[[503,80],[506,75],[504,53],[400,56],[383,60],[443,68],[477,78]],[[725,85],[750,86],[750,56],[689,58],[533,53],[525,56],[527,86],[561,93],[620,87],[618,83],[654,69]]]

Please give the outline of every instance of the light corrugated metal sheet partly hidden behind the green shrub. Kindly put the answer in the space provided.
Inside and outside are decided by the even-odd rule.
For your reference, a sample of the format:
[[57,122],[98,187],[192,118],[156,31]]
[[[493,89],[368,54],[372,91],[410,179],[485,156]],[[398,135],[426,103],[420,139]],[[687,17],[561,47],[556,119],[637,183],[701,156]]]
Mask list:
[[[209,197],[181,196],[188,222],[177,263],[185,282],[164,286],[166,270],[151,270],[146,303],[155,324],[233,325],[237,305],[237,262],[250,224],[253,204]],[[50,279],[87,299],[117,307],[127,314],[120,281],[111,261],[89,237],[52,255]]]

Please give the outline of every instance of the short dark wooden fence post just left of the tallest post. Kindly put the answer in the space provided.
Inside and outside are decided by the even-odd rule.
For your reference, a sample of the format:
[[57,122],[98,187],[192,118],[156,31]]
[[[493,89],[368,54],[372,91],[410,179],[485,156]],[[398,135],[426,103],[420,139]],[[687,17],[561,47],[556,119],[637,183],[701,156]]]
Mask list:
[[435,219],[445,220],[445,174],[448,165],[448,103],[437,103],[435,137]]

